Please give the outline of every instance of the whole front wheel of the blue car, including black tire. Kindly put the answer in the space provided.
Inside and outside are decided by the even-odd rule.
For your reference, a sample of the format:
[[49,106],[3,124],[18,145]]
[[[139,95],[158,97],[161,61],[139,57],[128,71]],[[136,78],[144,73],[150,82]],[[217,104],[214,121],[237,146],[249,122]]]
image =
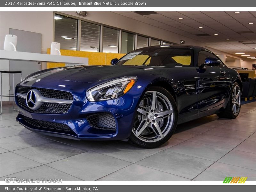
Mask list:
[[156,148],[171,138],[177,121],[172,95],[162,87],[152,86],[140,100],[130,141],[143,148]]

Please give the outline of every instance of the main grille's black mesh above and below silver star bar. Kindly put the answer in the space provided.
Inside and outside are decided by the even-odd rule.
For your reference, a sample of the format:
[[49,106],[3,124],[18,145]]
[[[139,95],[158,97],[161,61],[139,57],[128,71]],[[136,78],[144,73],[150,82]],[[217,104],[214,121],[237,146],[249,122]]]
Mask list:
[[[73,100],[73,95],[70,92],[66,91],[58,91],[58,90],[51,90],[51,89],[44,89],[44,88],[34,88],[34,87],[17,87],[17,92],[22,94],[27,94],[31,89],[37,89],[41,92],[44,97],[47,98],[55,98],[55,99],[64,99],[64,100]],[[51,95],[52,94],[52,95]],[[21,107],[26,109],[31,113],[51,113],[51,114],[58,114],[58,113],[67,113],[71,107],[71,104],[59,104],[59,103],[43,103],[43,105],[36,109],[32,110],[28,108],[26,104],[26,99],[17,97],[17,104]]]

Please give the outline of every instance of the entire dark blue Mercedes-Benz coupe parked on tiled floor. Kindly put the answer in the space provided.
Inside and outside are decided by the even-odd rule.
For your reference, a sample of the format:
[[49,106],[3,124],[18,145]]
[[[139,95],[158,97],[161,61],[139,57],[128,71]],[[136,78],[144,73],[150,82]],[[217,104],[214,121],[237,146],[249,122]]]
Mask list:
[[145,47],[111,63],[27,76],[15,90],[17,121],[52,136],[129,139],[154,148],[169,140],[177,124],[239,114],[240,76],[203,47]]

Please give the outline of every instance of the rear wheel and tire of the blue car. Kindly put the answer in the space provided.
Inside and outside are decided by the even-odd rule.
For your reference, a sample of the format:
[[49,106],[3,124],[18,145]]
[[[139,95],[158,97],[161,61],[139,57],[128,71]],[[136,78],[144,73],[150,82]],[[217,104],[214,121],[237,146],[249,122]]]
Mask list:
[[217,115],[222,118],[235,119],[239,115],[241,109],[241,95],[242,90],[240,85],[238,83],[234,83],[230,92],[227,107],[224,111],[217,113]]

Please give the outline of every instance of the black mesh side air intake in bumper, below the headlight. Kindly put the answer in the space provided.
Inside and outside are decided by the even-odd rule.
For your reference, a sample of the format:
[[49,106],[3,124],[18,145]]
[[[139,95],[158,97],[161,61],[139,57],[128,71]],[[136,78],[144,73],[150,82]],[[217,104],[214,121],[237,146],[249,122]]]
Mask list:
[[109,113],[90,115],[87,120],[93,128],[116,131],[115,118]]

